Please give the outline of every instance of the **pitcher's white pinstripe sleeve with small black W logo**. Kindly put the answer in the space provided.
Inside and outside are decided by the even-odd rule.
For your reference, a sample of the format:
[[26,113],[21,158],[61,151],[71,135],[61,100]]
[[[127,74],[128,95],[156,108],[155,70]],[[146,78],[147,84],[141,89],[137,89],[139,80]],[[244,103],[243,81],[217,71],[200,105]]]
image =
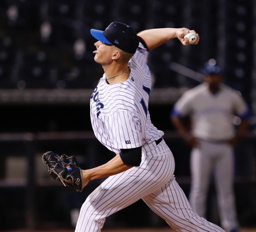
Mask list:
[[110,140],[116,149],[142,146],[141,122],[129,111],[118,111],[109,116]]

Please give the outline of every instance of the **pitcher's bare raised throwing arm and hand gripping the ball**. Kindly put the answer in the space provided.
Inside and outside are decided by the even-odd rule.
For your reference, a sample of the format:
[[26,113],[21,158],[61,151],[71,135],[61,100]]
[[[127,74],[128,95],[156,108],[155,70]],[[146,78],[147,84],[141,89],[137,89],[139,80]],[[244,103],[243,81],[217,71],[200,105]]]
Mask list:
[[[188,38],[184,39],[184,36],[188,34],[188,28],[156,28],[141,31],[138,33],[145,43],[149,50],[157,48],[158,46],[164,44],[168,40],[178,38],[183,45],[188,45]],[[194,44],[198,44],[199,36],[196,34],[197,40]]]

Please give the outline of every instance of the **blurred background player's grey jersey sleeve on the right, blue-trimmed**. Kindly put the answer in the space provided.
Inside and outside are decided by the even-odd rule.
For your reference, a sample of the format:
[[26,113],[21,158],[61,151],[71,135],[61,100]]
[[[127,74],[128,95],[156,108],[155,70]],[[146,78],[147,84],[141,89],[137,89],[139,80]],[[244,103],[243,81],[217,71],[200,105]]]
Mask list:
[[233,105],[234,105],[235,114],[241,117],[241,119],[245,119],[250,116],[249,109],[245,101],[243,100],[241,94],[237,91],[234,91],[234,94],[233,94]]

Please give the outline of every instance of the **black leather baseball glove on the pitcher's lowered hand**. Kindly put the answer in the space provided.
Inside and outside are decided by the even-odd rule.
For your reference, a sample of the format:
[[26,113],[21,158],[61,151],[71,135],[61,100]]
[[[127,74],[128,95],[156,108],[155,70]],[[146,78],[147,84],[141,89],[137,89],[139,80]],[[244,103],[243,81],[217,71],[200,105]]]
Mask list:
[[[81,192],[81,169],[77,166],[75,157],[55,155],[52,151],[43,154],[43,163],[48,167],[48,172],[54,180],[60,180],[64,186],[70,186],[75,191]],[[72,182],[72,184],[70,184]]]

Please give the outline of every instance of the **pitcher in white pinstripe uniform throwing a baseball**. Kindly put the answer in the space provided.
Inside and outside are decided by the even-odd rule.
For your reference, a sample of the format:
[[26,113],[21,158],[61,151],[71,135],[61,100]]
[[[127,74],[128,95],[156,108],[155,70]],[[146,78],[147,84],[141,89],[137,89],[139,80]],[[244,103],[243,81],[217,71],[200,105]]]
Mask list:
[[[66,162],[68,157],[64,164],[52,152],[43,155],[53,178],[78,191],[90,180],[108,177],[83,203],[75,231],[99,232],[106,217],[143,199],[176,231],[223,232],[190,207],[175,181],[175,162],[164,133],[151,123],[148,110],[149,50],[174,38],[188,45],[184,36],[189,29],[150,29],[137,35],[129,25],[113,22],[105,31],[91,33],[98,40],[94,60],[105,72],[91,96],[92,127],[96,138],[116,155],[104,165],[81,171],[75,161]],[[195,44],[198,41],[197,34]],[[72,170],[67,171],[67,164]]]

